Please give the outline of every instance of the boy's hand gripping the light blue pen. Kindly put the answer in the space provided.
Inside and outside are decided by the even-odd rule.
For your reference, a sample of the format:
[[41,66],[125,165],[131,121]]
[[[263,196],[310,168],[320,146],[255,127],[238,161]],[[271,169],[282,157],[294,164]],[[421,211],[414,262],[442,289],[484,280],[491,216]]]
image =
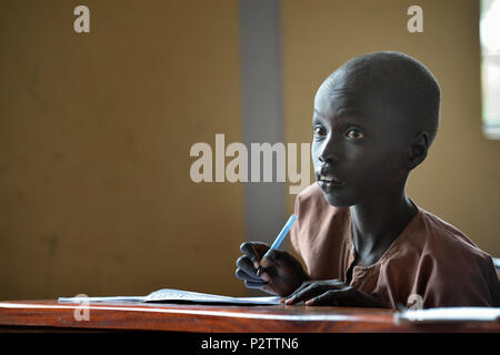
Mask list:
[[[236,275],[249,288],[287,296],[308,280],[299,261],[287,252],[269,251],[268,244],[259,242],[246,242],[240,250],[244,255],[237,261]],[[263,272],[257,275],[259,266]]]

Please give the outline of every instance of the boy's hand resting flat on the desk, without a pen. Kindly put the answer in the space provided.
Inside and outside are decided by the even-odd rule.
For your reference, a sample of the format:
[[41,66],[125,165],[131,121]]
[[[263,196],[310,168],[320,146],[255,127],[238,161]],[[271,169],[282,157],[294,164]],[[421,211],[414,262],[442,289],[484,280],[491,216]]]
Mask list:
[[340,280],[307,281],[287,297],[284,303],[296,304],[301,301],[304,301],[308,306],[388,307]]

